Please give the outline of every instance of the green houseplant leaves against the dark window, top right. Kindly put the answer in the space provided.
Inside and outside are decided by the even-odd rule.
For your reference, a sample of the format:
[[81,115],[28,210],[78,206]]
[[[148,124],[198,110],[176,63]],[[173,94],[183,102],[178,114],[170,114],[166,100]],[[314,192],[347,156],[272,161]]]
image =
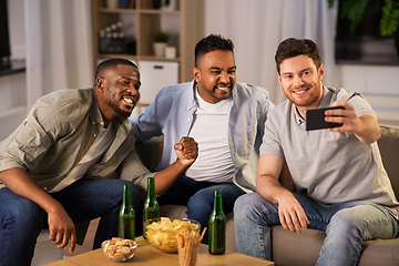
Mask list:
[[[336,0],[327,0],[329,8]],[[340,0],[342,1],[341,18],[350,21],[354,34],[358,24],[370,11],[381,12],[379,30],[381,37],[391,37],[399,25],[399,0]]]

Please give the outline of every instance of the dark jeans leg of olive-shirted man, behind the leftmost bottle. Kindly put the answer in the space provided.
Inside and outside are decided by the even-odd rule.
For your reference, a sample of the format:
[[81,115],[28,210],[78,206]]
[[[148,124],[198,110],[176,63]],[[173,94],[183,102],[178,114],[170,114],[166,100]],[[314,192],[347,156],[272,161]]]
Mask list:
[[80,180],[51,195],[62,204],[74,223],[101,217],[94,237],[94,249],[101,247],[103,241],[117,236],[117,216],[125,183],[131,184],[132,205],[137,213],[140,191],[129,181]]

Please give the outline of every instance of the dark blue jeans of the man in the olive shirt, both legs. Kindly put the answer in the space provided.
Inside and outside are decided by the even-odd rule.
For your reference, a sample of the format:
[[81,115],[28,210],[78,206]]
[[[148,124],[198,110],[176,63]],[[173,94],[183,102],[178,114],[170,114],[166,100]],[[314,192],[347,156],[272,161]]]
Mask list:
[[[51,193],[65,208],[73,223],[101,217],[93,249],[112,236],[117,236],[117,216],[122,204],[122,180],[80,180],[60,192]],[[131,184],[132,204],[137,212],[140,191]],[[0,190],[0,265],[30,265],[37,237],[45,212],[32,201]],[[44,218],[45,219],[45,218]]]

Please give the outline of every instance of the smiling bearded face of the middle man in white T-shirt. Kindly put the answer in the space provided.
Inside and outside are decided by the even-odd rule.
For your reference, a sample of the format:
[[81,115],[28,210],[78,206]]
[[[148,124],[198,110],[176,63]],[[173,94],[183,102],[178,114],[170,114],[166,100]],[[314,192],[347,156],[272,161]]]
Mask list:
[[215,50],[197,60],[193,74],[204,101],[217,103],[227,99],[236,82],[236,65],[232,51]]

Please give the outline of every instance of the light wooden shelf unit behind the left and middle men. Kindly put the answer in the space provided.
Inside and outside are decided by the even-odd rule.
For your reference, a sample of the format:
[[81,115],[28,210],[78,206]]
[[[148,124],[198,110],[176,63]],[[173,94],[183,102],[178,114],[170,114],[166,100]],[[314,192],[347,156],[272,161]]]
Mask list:
[[[125,58],[139,62],[141,60],[178,62],[178,81],[193,79],[194,48],[203,38],[203,0],[175,0],[176,10],[153,9],[152,1],[135,0],[134,9],[108,9],[104,1],[92,0],[94,64],[98,59]],[[173,4],[174,6],[174,4]],[[119,21],[123,22],[125,33],[123,51],[131,53],[100,53],[99,31]],[[153,37],[156,31],[170,33],[168,47],[176,48],[176,58],[160,58],[154,55]],[[135,53],[127,49],[127,43],[135,43]],[[105,42],[106,43],[106,42]],[[104,44],[104,42],[102,43]],[[111,51],[111,50],[103,50]],[[117,50],[114,50],[117,51]],[[140,65],[137,65],[140,69]]]

